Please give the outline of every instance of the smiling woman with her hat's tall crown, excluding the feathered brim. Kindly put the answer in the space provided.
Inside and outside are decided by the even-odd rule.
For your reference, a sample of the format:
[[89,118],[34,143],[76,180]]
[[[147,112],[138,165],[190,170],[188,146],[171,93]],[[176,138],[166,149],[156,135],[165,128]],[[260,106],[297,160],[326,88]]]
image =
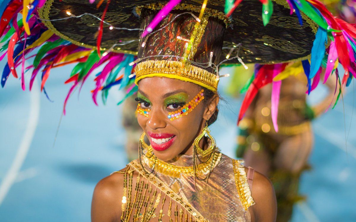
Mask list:
[[[154,15],[155,10],[141,9],[142,29]],[[173,10],[161,28],[140,39],[139,158],[96,185],[93,222],[275,220],[269,180],[220,153],[210,134],[218,115],[215,64],[226,24],[213,16],[203,19],[196,23],[189,13]],[[198,34],[199,41],[190,36]]]

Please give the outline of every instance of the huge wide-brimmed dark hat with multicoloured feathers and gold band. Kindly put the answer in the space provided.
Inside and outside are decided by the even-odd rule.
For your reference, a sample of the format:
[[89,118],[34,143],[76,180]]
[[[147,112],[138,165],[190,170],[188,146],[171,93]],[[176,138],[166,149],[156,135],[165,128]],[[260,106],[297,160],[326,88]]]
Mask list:
[[[41,72],[44,90],[53,67],[77,63],[66,81],[73,84],[67,99],[91,74],[95,103],[99,91],[105,101],[120,84],[129,86],[129,96],[152,76],[216,91],[223,65],[303,60],[311,80],[321,66],[332,72],[339,61],[343,82],[356,75],[355,27],[317,0],[4,0],[0,15],[1,58],[8,60],[1,85],[22,66],[23,90],[29,69],[30,89]],[[32,56],[33,65],[24,67],[21,61]]]

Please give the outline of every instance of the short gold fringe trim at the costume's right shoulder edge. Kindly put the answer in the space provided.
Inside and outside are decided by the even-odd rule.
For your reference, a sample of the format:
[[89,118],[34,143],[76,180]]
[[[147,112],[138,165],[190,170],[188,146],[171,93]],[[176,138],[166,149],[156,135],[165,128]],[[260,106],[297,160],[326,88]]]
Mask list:
[[247,176],[245,168],[242,165],[243,163],[244,161],[241,159],[232,159],[232,164],[234,165],[236,188],[237,191],[239,191],[241,203],[247,211],[250,206],[255,204],[255,201],[252,198],[250,186],[247,183]]

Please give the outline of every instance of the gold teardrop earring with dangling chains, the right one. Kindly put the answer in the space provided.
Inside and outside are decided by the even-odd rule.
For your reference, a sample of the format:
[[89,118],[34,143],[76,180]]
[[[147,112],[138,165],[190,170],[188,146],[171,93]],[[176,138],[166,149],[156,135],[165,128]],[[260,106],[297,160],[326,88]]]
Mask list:
[[[210,140],[210,146],[206,149],[206,150],[203,150],[202,148],[200,148],[199,146],[199,142],[201,139],[203,139],[204,137],[208,137],[209,140]],[[195,190],[198,191],[198,188],[197,188],[197,179],[200,180],[200,181],[204,181],[205,183],[208,183],[208,179],[211,175],[211,172],[213,172],[213,165],[214,165],[214,156],[215,156],[215,150],[216,150],[216,141],[214,139],[213,136],[211,136],[210,134],[210,129],[208,127],[208,120],[206,121],[206,126],[204,127],[204,129],[202,130],[202,133],[197,137],[195,138],[194,142],[193,142],[193,171],[194,171],[194,186],[195,186]],[[200,155],[201,157],[205,157],[205,156],[208,156],[209,157],[205,160],[205,161],[202,161],[199,156]],[[206,163],[208,161],[211,162],[210,164],[210,169],[209,169],[209,173],[208,175],[206,175],[206,177],[204,178],[199,178],[198,175],[197,175],[197,168],[198,168],[198,163],[197,163],[197,159],[200,163]],[[205,189],[206,187],[206,184],[204,186],[204,188],[198,192],[201,192]]]

